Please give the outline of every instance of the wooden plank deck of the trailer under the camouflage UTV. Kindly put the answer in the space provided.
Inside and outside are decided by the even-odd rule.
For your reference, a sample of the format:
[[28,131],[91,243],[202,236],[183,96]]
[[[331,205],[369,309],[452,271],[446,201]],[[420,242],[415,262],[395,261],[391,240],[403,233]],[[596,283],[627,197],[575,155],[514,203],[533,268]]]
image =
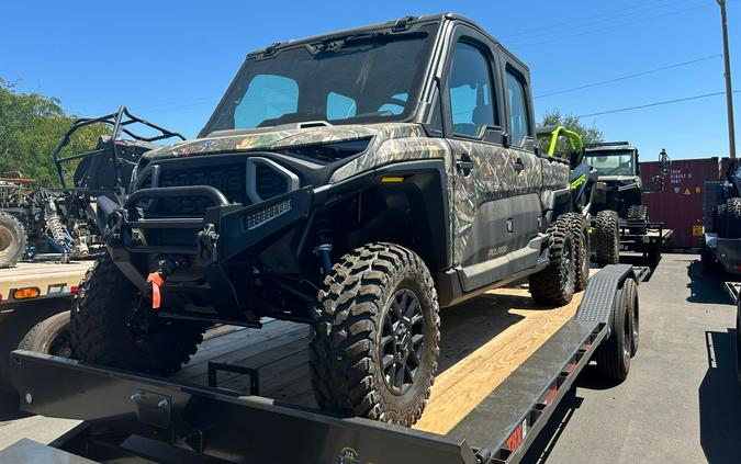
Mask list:
[[[582,293],[562,307],[537,306],[527,288],[498,288],[442,309],[440,360],[433,393],[415,429],[445,434],[473,410],[568,320]],[[259,372],[260,396],[316,407],[308,378],[308,327],[270,320],[262,329],[234,329],[203,342],[175,378],[207,384],[209,361]],[[249,377],[218,373],[218,386],[248,392]]]

